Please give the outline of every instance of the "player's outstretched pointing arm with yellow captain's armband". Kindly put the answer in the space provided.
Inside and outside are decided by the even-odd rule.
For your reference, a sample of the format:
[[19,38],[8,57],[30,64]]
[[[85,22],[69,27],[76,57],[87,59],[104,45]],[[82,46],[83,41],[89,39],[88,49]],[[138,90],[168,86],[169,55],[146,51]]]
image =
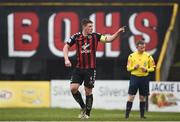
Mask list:
[[100,38],[100,41],[101,42],[112,42],[113,40],[115,40],[121,32],[125,32],[125,27],[126,26],[123,26],[121,28],[119,28],[114,34],[112,35],[102,35],[101,38]]

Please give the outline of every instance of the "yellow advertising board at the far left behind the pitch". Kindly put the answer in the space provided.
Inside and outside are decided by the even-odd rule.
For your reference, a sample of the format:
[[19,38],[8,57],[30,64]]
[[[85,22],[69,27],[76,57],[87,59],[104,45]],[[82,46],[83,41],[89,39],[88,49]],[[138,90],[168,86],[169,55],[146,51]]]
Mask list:
[[47,81],[1,81],[0,108],[50,107],[49,89]]

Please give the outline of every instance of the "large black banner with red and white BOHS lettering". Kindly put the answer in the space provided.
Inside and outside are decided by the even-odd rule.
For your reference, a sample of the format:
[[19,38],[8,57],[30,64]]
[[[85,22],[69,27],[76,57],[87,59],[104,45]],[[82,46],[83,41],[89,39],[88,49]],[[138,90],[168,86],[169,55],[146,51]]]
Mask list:
[[[0,57],[18,61],[58,60],[62,68],[65,40],[81,30],[82,18],[89,18],[95,32],[103,34],[113,34],[119,27],[127,26],[126,32],[113,43],[98,45],[97,70],[109,71],[103,66],[111,64],[113,72],[119,73],[117,68],[126,65],[127,56],[136,50],[135,42],[139,39],[145,40],[147,51],[157,61],[172,10],[173,4],[164,3],[0,3]],[[75,47],[70,57],[75,58]],[[46,70],[51,67],[47,62]],[[118,73],[110,74],[111,78],[119,78]]]

